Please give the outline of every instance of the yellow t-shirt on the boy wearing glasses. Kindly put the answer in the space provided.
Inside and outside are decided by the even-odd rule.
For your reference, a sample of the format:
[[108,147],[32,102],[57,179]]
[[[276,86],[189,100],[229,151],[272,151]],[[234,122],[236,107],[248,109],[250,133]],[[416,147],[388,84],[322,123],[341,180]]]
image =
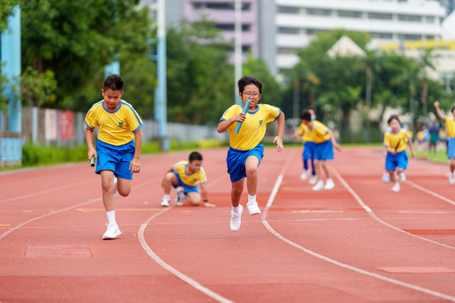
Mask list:
[[[226,121],[241,113],[243,107],[236,104],[230,106],[220,119]],[[282,111],[269,104],[257,104],[256,111],[247,111],[245,121],[242,123],[239,133],[234,133],[237,123],[232,123],[228,131],[230,134],[230,146],[236,150],[252,150],[264,138],[266,124],[277,120]]]

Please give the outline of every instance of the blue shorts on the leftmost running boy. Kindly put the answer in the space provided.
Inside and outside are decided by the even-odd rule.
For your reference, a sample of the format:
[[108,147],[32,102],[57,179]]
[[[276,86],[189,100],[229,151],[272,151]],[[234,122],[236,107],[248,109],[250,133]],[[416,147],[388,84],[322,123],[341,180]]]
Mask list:
[[101,170],[112,170],[116,177],[133,180],[133,173],[129,170],[129,162],[134,158],[134,151],[134,141],[116,146],[98,140],[97,169],[95,172],[100,175]]

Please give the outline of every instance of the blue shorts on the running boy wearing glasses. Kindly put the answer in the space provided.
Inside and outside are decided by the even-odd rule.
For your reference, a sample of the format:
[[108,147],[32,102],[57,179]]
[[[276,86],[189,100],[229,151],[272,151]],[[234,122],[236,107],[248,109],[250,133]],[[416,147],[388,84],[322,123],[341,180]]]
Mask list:
[[259,164],[261,164],[261,160],[264,157],[264,145],[259,143],[252,150],[236,150],[235,148],[229,148],[226,162],[228,163],[230,182],[237,182],[247,177],[245,162],[250,155],[254,155],[257,160],[259,160]]

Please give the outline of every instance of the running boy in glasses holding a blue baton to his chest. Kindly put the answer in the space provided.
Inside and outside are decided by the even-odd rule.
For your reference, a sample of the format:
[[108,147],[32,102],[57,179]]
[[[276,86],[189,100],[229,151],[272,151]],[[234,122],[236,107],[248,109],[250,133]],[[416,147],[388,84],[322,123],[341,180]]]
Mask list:
[[[232,105],[225,111],[218,124],[218,133],[228,130],[230,134],[230,148],[226,162],[228,173],[232,182],[231,190],[231,219],[230,230],[238,231],[243,207],[240,205],[240,196],[243,192],[247,178],[248,202],[247,208],[250,215],[260,214],[261,211],[256,202],[257,191],[257,167],[264,157],[264,145],[260,144],[264,138],[266,125],[272,121],[278,121],[278,136],[274,138],[277,143],[277,151],[283,148],[284,114],[282,111],[268,104],[257,104],[261,99],[262,83],[250,75],[246,75],[237,82],[239,97],[242,106]],[[243,106],[250,99],[251,104],[247,114],[243,114]],[[235,133],[236,122],[242,122],[239,133]]]

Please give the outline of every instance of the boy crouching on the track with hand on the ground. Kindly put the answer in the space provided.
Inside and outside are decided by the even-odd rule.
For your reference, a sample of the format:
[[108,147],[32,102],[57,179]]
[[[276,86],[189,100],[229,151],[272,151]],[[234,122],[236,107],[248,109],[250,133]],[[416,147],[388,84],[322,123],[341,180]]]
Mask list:
[[161,183],[161,187],[164,189],[161,206],[171,206],[171,198],[169,197],[171,187],[177,189],[177,206],[182,206],[185,199],[191,205],[199,205],[198,184],[200,185],[200,192],[202,192],[204,206],[215,206],[208,203],[206,183],[207,177],[202,167],[202,155],[198,152],[193,152],[190,154],[188,161],[176,162],[164,175]]

